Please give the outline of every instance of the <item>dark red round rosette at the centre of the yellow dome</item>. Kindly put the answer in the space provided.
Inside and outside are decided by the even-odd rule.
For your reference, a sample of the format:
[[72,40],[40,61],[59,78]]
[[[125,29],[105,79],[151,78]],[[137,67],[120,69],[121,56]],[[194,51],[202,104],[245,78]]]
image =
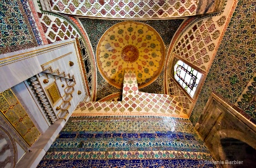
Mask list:
[[127,63],[133,63],[139,58],[139,50],[134,45],[127,45],[122,49],[122,59]]

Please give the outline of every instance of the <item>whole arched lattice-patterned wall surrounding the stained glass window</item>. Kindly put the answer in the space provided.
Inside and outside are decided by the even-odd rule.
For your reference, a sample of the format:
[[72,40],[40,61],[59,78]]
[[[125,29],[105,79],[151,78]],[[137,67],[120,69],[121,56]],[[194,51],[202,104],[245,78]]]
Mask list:
[[[174,74],[171,74],[173,72],[171,68],[174,68],[172,63],[174,58],[181,59],[181,61],[203,74],[201,81],[204,81],[205,74],[208,73],[216,55],[218,44],[225,32],[236,3],[237,1],[226,0],[220,14],[189,18],[177,30],[167,53],[166,69],[164,71],[166,94],[172,94],[173,89],[176,89],[176,92],[180,90],[180,93],[184,93],[181,88],[173,87],[175,84],[171,78],[174,78],[172,77]],[[200,91],[201,86],[201,84],[198,85],[198,91]],[[190,102],[183,101],[189,116],[199,96],[198,91],[193,96],[193,100],[186,94],[179,95],[180,100],[190,99]]]

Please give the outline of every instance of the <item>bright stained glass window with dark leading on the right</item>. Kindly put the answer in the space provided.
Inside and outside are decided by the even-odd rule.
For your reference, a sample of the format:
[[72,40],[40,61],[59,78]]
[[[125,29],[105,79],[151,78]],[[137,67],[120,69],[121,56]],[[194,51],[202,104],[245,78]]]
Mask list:
[[174,66],[174,77],[180,85],[193,97],[196,92],[196,87],[202,74],[194,70],[182,61],[177,61]]

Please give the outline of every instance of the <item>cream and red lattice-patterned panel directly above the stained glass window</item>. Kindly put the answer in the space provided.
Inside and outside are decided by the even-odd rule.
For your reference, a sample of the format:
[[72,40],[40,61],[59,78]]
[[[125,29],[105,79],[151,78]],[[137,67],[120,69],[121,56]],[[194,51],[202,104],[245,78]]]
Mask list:
[[189,24],[180,34],[171,52],[207,71],[232,2],[225,1],[221,14],[207,15]]

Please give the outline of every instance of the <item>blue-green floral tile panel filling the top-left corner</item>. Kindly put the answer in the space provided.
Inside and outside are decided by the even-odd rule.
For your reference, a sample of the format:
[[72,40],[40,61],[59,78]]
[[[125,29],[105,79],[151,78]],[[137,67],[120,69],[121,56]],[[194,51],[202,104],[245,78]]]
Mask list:
[[[3,1],[0,4],[0,54],[38,46],[27,18],[27,8],[19,0]],[[38,38],[38,37],[36,37]]]

